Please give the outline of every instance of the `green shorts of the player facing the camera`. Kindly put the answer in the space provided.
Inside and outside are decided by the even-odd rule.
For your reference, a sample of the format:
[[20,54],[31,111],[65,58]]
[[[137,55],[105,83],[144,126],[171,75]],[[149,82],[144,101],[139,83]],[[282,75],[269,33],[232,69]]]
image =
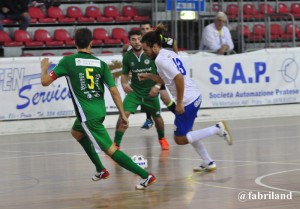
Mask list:
[[123,107],[126,112],[135,113],[138,106],[141,110],[150,113],[152,117],[160,116],[160,102],[158,96],[143,98],[135,92],[130,92],[125,96]]

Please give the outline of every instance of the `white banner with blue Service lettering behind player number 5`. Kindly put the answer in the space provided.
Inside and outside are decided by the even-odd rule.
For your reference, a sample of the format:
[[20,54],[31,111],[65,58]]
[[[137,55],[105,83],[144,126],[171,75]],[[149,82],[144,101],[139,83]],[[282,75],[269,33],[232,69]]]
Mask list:
[[[61,57],[51,57],[51,69]],[[122,57],[101,58],[108,64]],[[75,116],[69,88],[64,77],[58,78],[50,86],[43,87],[40,81],[39,57],[3,58],[0,60],[0,120],[20,120],[51,117]],[[119,72],[121,68],[112,70]],[[50,69],[50,70],[51,70]],[[124,92],[116,79],[121,96]],[[117,108],[109,94],[105,93],[107,112],[116,112]]]

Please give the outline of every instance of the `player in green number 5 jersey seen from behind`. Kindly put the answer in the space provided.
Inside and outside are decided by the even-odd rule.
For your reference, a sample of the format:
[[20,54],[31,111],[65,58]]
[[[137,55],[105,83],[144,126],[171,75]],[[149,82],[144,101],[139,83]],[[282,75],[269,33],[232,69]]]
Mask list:
[[[155,176],[139,167],[129,156],[118,150],[103,125],[106,115],[104,85],[109,89],[119,110],[120,126],[127,128],[128,119],[108,65],[91,55],[92,37],[89,29],[78,29],[75,33],[78,53],[63,57],[49,74],[47,71],[51,63],[48,58],[44,58],[41,61],[41,83],[43,86],[49,86],[59,77],[67,79],[77,117],[73,131],[76,132],[78,138],[86,137],[85,140],[91,140],[94,145],[85,151],[94,153],[94,148],[101,149],[120,166],[139,175],[142,179],[140,184],[136,185],[136,189],[145,189],[155,182]],[[88,146],[91,146],[91,143],[86,142],[86,147]],[[90,156],[90,153],[88,155]],[[97,176],[99,180],[109,177],[109,172],[103,165],[102,167]]]

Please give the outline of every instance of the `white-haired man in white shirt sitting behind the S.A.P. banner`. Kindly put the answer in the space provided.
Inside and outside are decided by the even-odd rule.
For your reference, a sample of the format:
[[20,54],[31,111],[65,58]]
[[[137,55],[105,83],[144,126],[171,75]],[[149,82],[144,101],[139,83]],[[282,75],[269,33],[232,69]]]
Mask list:
[[201,51],[224,55],[233,50],[231,34],[228,27],[225,26],[227,21],[225,13],[218,12],[216,14],[214,22],[207,25],[202,31]]

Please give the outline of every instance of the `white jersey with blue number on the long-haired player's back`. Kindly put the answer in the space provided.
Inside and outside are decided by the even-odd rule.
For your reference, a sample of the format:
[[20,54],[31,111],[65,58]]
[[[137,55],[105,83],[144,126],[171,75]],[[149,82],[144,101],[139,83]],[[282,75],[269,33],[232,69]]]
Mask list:
[[179,56],[170,50],[161,49],[158,53],[155,64],[159,76],[163,79],[171,95],[177,101],[177,90],[174,78],[181,73],[184,78],[183,105],[187,106],[200,96],[200,89],[190,78],[188,69],[184,66]]

